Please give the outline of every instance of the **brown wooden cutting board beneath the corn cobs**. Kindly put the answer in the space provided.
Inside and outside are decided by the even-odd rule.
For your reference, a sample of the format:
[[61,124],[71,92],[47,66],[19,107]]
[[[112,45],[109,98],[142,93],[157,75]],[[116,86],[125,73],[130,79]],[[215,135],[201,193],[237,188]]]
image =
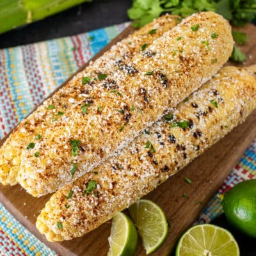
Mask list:
[[[240,30],[245,31],[250,37],[248,44],[241,47],[241,49],[246,52],[247,56],[247,61],[244,64],[252,65],[256,63],[256,27],[252,24],[248,24],[248,26]],[[131,27],[125,29],[113,42],[100,51],[95,58],[98,58],[103,52],[107,51],[111,45],[122,40],[122,38],[125,38],[132,33],[132,31],[134,31],[134,29]],[[234,63],[232,63],[232,65],[234,65]],[[145,198],[153,200],[163,208],[170,222],[166,241],[163,246],[152,255],[168,255],[172,251],[177,243],[177,239],[179,239],[180,235],[196,220],[207,201],[220,188],[223,180],[236,165],[253,138],[255,138],[255,124],[256,111],[248,116],[246,122],[236,127],[230,134],[202,154],[202,156],[195,159],[195,161],[184,168],[184,170],[180,171],[152,191],[152,193],[145,196]],[[1,143],[3,143],[3,141],[1,141]],[[185,176],[193,180],[193,184],[186,183],[184,181]],[[189,198],[184,198],[184,193],[187,193]],[[35,221],[36,216],[38,216],[48,199],[49,196],[33,198],[33,196],[28,195],[19,185],[13,187],[0,186],[0,201],[6,209],[8,209],[22,225],[28,228],[30,232],[35,234],[38,239],[60,253],[60,255],[106,255],[108,252],[108,236],[110,234],[111,221],[101,225],[89,234],[73,239],[72,241],[61,243],[50,243],[46,241],[45,237],[36,230]],[[145,250],[143,250],[141,243],[138,246],[136,255],[145,255]]]

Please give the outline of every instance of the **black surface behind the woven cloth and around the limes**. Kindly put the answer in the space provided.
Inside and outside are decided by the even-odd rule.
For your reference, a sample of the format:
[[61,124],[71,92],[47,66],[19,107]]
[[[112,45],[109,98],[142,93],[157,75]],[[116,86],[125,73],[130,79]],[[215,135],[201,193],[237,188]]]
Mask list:
[[[22,44],[40,42],[61,36],[76,35],[97,28],[125,22],[131,0],[98,0],[84,3],[65,12],[56,14],[0,35],[0,49]],[[215,225],[227,228],[236,237],[241,256],[256,256],[255,239],[250,239],[231,228],[225,216],[213,221]],[[182,223],[180,223],[182,225]],[[174,255],[174,254],[173,254]]]

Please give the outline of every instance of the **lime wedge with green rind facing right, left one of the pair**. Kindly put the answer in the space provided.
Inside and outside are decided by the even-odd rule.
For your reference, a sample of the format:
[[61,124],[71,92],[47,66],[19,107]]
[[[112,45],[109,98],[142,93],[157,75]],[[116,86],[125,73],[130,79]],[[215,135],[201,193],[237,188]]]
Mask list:
[[124,213],[119,212],[113,218],[108,242],[108,256],[132,256],[136,252],[137,230],[132,220]]

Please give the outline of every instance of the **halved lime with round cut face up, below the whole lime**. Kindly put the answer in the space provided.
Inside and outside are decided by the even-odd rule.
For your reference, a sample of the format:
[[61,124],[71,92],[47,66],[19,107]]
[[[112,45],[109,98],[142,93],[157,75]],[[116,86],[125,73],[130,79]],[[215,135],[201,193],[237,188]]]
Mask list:
[[189,228],[180,238],[176,256],[239,256],[232,234],[211,224]]

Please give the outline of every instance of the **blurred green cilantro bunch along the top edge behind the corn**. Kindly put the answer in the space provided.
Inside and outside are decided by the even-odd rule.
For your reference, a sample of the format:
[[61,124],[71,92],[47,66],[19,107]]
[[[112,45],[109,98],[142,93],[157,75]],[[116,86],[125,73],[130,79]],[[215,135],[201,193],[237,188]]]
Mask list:
[[235,26],[242,26],[255,18],[256,0],[133,0],[128,16],[140,28],[161,13],[186,17],[202,11],[220,13]]

